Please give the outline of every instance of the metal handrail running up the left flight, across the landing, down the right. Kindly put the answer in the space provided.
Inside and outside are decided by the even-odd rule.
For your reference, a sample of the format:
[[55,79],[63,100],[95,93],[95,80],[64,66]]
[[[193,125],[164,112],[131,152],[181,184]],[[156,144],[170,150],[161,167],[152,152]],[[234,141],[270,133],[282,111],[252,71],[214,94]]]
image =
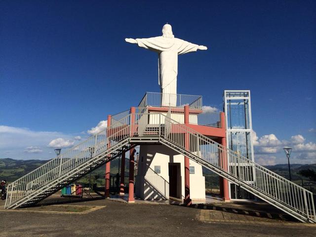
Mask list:
[[[147,134],[158,136],[160,142],[163,142],[163,139],[170,142],[179,148],[181,153],[203,161],[203,165],[214,168],[220,175],[294,217],[302,221],[316,222],[312,192],[171,119],[170,111],[169,109],[167,116],[161,113],[129,114],[120,120],[120,123],[125,125],[111,125],[48,161],[8,185],[5,207],[28,195],[36,194],[43,185],[48,185],[50,181],[66,175],[79,165],[82,166],[87,160],[98,157],[98,154],[108,149],[109,144],[118,144],[128,137],[141,138],[148,127]],[[126,121],[129,121],[128,125]]]

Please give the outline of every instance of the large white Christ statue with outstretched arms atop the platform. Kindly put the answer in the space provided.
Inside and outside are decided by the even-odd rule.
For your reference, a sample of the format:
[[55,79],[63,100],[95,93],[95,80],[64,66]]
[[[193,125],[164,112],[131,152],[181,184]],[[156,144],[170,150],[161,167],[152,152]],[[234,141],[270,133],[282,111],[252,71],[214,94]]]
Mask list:
[[148,39],[125,39],[129,43],[137,43],[139,47],[158,53],[158,84],[162,93],[162,106],[176,106],[178,54],[195,52],[207,47],[185,40],[174,38],[171,25],[165,24],[162,36]]

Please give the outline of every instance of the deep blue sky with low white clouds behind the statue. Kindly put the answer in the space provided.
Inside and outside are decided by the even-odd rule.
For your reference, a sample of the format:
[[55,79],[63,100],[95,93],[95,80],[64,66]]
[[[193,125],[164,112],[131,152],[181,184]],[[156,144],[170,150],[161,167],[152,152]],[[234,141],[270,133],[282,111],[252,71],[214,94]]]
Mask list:
[[1,1],[0,158],[51,158],[51,140],[69,147],[158,92],[157,55],[124,38],[168,22],[208,47],[179,56],[178,93],[221,109],[224,89],[250,89],[256,159],[284,163],[288,144],[316,163],[315,12],[312,0]]

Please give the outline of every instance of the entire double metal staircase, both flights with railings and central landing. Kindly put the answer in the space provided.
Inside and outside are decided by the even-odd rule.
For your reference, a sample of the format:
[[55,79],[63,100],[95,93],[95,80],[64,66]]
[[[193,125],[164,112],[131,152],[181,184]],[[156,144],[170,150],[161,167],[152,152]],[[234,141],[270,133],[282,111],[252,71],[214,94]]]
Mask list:
[[[316,223],[313,194],[161,113],[129,114],[8,186],[5,208],[30,205],[122,151],[160,143],[195,160],[302,222]],[[119,125],[118,125],[119,124]]]

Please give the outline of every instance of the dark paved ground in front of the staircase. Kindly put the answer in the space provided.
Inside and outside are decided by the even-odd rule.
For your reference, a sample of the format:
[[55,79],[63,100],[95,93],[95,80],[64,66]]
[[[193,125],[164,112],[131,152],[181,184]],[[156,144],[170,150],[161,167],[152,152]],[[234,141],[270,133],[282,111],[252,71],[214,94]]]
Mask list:
[[[49,202],[59,201],[55,198]],[[3,204],[0,201],[0,237],[316,236],[316,225],[293,222],[263,203],[216,202],[183,207],[99,199],[2,210]]]

